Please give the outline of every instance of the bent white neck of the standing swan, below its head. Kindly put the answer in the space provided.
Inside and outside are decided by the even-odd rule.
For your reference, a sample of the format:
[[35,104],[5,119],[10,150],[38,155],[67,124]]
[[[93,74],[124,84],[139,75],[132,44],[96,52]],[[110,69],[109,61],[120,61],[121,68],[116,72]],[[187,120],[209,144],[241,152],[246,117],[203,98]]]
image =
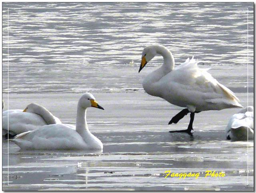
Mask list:
[[166,47],[156,45],[155,46],[156,53],[160,54],[164,58],[164,64],[161,68],[164,70],[164,72],[171,72],[174,69],[174,58],[172,56],[172,52],[170,52]]

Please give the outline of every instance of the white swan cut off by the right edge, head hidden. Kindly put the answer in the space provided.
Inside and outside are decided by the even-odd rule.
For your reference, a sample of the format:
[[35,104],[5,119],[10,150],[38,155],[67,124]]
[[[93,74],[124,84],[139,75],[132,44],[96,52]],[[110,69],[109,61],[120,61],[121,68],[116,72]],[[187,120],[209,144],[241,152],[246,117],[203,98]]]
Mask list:
[[248,106],[234,114],[226,126],[227,139],[233,141],[250,140],[254,138],[254,109]]

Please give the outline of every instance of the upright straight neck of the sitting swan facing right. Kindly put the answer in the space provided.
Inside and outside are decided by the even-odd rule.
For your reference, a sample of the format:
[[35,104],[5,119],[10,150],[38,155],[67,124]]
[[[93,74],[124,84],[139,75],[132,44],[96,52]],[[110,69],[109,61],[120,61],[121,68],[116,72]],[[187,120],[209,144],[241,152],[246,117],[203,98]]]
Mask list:
[[76,131],[84,138],[86,132],[90,132],[86,122],[86,111],[78,104],[76,114]]

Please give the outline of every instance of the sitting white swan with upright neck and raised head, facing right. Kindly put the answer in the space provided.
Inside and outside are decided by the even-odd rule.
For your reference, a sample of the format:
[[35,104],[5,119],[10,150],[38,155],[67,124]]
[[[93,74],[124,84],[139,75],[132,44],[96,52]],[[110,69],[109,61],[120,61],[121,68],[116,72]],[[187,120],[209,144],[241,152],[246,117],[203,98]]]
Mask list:
[[45,125],[34,131],[16,135],[14,141],[21,149],[103,149],[100,139],[90,133],[86,123],[86,109],[104,109],[92,94],[85,93],[78,101],[76,130],[66,124]]

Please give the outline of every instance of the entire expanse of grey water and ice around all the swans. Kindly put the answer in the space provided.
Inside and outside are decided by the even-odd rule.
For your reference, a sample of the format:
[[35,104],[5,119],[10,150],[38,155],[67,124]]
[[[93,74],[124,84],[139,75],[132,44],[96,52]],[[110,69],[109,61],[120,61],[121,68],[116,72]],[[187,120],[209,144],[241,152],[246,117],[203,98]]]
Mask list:
[[[252,190],[253,141],[225,139],[237,109],[196,115],[194,138],[168,133],[189,117],[168,126],[180,107],[144,93],[143,78],[163,62],[156,57],[138,74],[150,44],[168,47],[176,65],[194,55],[253,105],[253,3],[4,3],[9,109],[36,102],[75,124],[79,97],[92,92],[106,110],[87,117],[103,152],[20,151],[4,140],[3,189]],[[226,176],[205,178],[209,169]],[[166,170],[201,174],[164,178]]]

